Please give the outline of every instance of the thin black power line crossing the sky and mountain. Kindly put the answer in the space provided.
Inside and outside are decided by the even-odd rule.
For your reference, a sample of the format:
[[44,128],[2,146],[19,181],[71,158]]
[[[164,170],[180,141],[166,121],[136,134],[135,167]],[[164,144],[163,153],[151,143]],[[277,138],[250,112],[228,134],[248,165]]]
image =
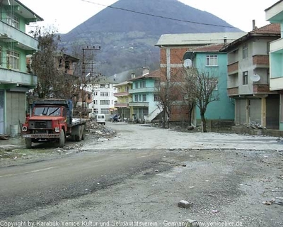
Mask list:
[[[155,15],[155,14],[151,14],[151,13],[143,13],[143,12],[139,12],[139,11],[134,11],[132,9],[123,9],[123,8],[115,7],[115,6],[107,6],[107,5],[99,4],[99,3],[96,3],[96,2],[93,2],[93,1],[88,1],[88,0],[81,0],[81,1],[85,1],[85,2],[88,2],[90,4],[96,4],[98,6],[105,6],[105,7],[110,8],[110,9],[119,9],[119,10],[122,10],[122,11],[131,12],[131,13],[138,13],[138,14],[141,14],[141,15],[154,16],[154,17],[157,17],[157,18],[168,19],[168,20],[171,20],[171,21],[180,21],[180,22],[185,22],[185,23],[195,23],[195,24],[200,24],[200,25],[203,25],[203,26],[215,26],[215,27],[222,27],[222,28],[235,28],[233,26],[221,26],[221,25],[217,25],[217,24],[213,24],[213,23],[200,23],[200,22],[196,22],[196,21],[187,21],[187,20],[171,18],[171,17],[167,17],[167,16],[159,16],[159,15]],[[235,28],[235,29],[237,29],[237,28]]]

